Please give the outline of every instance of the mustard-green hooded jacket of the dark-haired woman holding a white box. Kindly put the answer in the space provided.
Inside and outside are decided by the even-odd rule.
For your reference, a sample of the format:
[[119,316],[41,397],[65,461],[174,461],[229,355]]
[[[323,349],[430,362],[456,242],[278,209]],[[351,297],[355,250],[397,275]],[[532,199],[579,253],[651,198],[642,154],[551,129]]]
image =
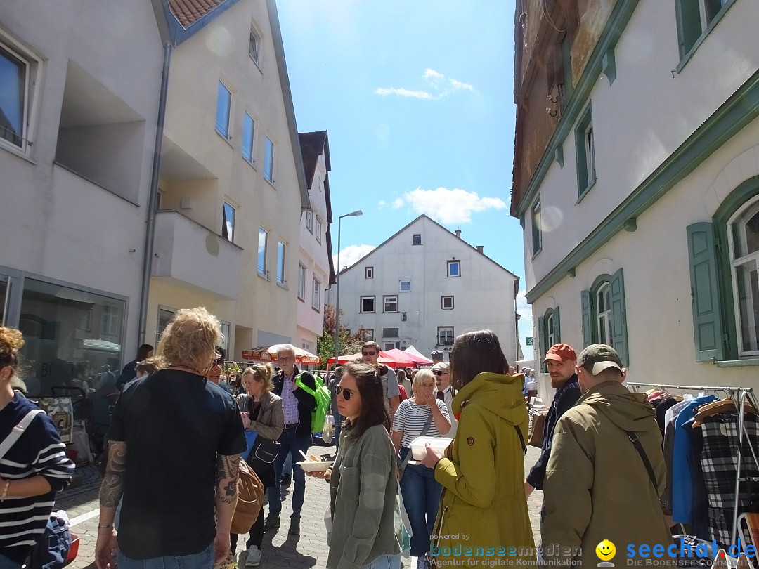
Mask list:
[[480,373],[453,398],[453,412],[461,411],[458,429],[435,467],[443,488],[431,550],[438,561],[480,567],[534,559],[516,430],[526,441],[523,382],[523,376]]

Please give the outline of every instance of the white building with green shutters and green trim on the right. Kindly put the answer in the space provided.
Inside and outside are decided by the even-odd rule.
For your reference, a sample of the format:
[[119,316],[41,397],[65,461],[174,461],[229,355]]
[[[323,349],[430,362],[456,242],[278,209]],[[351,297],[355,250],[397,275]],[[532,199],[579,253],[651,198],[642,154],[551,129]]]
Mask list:
[[757,21],[746,0],[517,2],[539,354],[602,341],[632,381],[759,385]]

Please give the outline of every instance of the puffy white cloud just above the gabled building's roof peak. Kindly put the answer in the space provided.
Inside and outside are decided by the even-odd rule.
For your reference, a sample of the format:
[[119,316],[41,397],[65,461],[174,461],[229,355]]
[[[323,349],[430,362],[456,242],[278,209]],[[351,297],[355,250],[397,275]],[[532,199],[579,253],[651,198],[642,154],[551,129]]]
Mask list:
[[398,208],[404,203],[408,203],[417,213],[429,215],[443,224],[470,223],[473,212],[506,207],[498,197],[480,197],[477,192],[468,192],[458,187],[453,190],[445,187],[436,190],[417,188],[403,194],[402,198],[397,198],[392,206]]

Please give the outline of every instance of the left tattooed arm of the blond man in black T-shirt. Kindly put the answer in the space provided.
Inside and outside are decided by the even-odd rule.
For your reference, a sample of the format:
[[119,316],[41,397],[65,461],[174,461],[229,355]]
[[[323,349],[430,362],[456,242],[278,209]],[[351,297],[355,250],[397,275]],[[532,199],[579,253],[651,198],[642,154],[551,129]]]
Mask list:
[[113,518],[116,506],[124,492],[124,472],[127,465],[127,443],[111,441],[108,448],[108,466],[106,476],[100,486],[100,518],[98,520],[95,562],[98,569],[113,567],[112,551],[118,549]]

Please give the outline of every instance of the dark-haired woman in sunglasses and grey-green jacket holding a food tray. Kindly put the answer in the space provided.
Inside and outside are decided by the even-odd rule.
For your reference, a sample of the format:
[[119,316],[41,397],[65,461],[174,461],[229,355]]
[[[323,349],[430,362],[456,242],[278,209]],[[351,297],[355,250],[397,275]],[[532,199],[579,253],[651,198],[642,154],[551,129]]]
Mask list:
[[343,366],[337,406],[346,417],[330,480],[332,533],[328,569],[400,569],[401,513],[395,490],[395,451],[383,382],[374,366]]

